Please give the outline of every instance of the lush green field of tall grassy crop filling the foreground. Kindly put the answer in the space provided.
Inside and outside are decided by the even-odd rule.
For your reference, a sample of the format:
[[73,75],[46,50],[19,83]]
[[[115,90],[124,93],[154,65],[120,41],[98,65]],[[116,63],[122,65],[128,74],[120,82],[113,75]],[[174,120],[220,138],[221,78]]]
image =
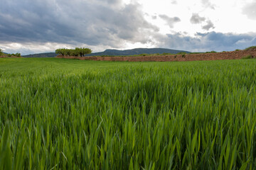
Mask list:
[[0,59],[0,169],[255,169],[256,60]]

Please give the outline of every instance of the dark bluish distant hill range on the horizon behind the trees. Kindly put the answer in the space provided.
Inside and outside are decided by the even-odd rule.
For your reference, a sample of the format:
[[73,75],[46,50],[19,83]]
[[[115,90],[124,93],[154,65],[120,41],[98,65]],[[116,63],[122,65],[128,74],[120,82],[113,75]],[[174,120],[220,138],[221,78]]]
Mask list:
[[[163,53],[171,53],[177,54],[178,52],[186,52],[183,50],[171,50],[166,48],[135,48],[132,50],[105,50],[104,52],[95,52],[90,55],[85,56],[101,56],[101,55],[141,55],[141,54],[163,54]],[[57,55],[55,52],[47,52],[47,53],[40,53],[35,55],[23,55],[22,57],[56,57]]]

